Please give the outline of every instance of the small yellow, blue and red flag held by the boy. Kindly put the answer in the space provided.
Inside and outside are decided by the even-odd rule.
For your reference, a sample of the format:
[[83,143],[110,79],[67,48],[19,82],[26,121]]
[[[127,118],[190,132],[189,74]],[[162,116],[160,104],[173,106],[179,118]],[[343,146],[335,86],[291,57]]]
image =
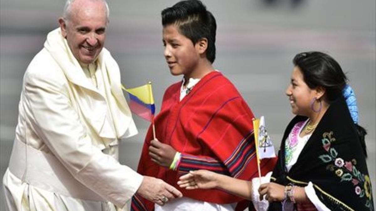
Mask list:
[[129,94],[130,110],[141,118],[153,122],[155,105],[152,83],[149,82],[144,86],[139,86],[132,89],[126,89],[124,86],[122,86],[121,88]]

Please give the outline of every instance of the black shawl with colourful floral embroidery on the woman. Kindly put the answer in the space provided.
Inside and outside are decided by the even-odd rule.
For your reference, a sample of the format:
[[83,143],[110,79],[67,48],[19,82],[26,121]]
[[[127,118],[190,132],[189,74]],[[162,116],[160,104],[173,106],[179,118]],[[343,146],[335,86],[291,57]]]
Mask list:
[[[372,188],[365,157],[342,97],[329,106],[296,164],[287,172],[285,140],[294,125],[306,119],[296,116],[287,126],[271,181],[303,187],[312,182],[318,198],[332,211],[373,211]],[[268,210],[282,210],[281,203],[271,203]]]

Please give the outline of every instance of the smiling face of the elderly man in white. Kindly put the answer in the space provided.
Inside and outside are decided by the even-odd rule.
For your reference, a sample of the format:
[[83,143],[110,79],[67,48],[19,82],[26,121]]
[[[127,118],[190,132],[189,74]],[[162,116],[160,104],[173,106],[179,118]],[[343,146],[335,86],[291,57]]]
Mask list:
[[61,18],[62,36],[79,62],[89,64],[96,60],[105,44],[107,13],[102,1],[76,0],[67,20]]

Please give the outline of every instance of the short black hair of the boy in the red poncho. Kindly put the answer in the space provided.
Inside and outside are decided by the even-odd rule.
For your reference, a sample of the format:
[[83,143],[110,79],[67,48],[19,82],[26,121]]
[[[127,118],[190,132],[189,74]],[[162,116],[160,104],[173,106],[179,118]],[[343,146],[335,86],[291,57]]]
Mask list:
[[217,24],[211,12],[199,0],[186,0],[161,12],[163,27],[174,24],[179,32],[190,39],[193,44],[201,38],[208,39],[206,58],[213,63],[215,60],[215,30]]

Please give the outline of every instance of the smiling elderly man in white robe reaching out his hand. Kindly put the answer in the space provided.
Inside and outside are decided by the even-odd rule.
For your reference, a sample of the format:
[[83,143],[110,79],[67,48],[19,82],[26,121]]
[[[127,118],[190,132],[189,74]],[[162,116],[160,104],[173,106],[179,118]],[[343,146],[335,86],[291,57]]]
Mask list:
[[181,197],[118,162],[118,141],[137,130],[103,48],[108,14],[105,0],[68,0],[25,72],[3,178],[11,211],[125,210],[135,193],[161,205]]

